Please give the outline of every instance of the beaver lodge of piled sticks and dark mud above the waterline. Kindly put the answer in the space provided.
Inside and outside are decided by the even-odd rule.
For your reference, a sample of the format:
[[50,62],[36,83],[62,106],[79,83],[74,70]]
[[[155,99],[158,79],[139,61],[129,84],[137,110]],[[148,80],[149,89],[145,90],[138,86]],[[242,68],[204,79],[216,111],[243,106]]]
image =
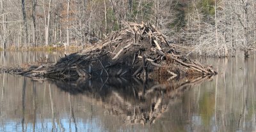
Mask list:
[[54,64],[33,66],[19,72],[30,77],[185,77],[215,75],[211,66],[191,61],[166,41],[151,24],[126,24],[92,47],[65,55]]

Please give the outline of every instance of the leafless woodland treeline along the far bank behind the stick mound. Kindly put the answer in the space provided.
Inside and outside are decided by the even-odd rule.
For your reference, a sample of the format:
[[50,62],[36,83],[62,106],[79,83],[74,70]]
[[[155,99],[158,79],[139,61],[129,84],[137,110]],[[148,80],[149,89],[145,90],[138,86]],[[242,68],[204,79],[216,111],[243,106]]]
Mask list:
[[[244,55],[256,45],[254,0],[20,0],[0,1],[1,48],[104,39],[125,22],[150,22],[170,43],[202,55]],[[188,53],[188,54],[189,54]]]

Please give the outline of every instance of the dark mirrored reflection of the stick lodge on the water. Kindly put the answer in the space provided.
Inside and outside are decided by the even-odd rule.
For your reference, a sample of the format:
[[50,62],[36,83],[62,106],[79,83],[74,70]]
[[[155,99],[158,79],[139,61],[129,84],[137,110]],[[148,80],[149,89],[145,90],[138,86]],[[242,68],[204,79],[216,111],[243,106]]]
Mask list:
[[88,101],[93,101],[104,108],[106,115],[122,116],[128,124],[151,124],[169,106],[179,102],[184,91],[191,85],[198,84],[208,77],[170,82],[147,82],[137,78],[95,78],[81,79],[76,82],[53,81],[58,88],[71,94],[83,94]]

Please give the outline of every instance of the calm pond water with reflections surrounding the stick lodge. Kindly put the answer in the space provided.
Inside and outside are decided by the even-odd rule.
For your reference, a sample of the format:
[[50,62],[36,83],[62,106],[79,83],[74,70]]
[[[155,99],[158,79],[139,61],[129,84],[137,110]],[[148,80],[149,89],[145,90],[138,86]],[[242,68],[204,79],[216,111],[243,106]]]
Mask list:
[[[0,66],[39,52],[0,52]],[[60,54],[50,54],[56,61]],[[65,83],[0,74],[0,131],[255,131],[256,58],[205,59],[198,84],[97,78]]]

